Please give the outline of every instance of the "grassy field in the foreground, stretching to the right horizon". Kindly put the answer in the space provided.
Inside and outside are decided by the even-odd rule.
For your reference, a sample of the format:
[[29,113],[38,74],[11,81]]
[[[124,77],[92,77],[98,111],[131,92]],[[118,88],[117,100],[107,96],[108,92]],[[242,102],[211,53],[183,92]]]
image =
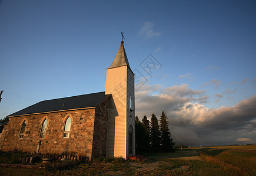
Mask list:
[[[75,164],[65,161],[44,165],[45,169],[0,167],[0,175],[256,175],[256,145],[185,148],[146,156],[149,159],[143,161],[124,158],[98,158]],[[2,155],[2,163],[1,158]]]

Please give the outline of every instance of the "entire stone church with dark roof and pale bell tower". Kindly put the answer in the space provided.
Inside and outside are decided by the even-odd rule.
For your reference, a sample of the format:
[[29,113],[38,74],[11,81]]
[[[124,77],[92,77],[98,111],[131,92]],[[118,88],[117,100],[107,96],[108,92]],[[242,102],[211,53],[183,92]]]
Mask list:
[[128,157],[135,155],[134,73],[124,41],[107,68],[105,92],[40,101],[13,113],[2,151]]

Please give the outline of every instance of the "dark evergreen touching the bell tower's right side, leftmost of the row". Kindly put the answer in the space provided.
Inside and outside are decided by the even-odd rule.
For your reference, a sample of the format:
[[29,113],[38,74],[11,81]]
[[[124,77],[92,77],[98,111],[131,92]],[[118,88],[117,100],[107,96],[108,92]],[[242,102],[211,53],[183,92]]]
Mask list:
[[139,117],[135,117],[135,146],[136,154],[144,154],[147,151],[147,134]]

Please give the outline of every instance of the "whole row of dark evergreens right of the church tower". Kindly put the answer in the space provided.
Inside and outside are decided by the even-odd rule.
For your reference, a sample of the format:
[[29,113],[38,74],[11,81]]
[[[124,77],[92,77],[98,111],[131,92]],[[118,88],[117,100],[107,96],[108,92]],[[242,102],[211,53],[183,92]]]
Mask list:
[[147,116],[144,116],[141,121],[138,116],[135,117],[137,154],[144,154],[147,152],[169,152],[175,150],[175,143],[172,141],[167,115],[164,111],[162,111],[159,123],[155,114],[151,115],[150,121]]

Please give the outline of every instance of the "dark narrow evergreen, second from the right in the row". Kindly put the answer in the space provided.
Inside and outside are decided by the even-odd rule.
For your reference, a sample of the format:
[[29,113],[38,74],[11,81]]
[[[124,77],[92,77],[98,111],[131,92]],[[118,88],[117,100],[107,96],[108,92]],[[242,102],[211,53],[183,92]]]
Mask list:
[[151,128],[150,128],[150,143],[151,143],[151,150],[152,151],[159,151],[160,148],[160,131],[158,120],[155,114],[151,116]]

